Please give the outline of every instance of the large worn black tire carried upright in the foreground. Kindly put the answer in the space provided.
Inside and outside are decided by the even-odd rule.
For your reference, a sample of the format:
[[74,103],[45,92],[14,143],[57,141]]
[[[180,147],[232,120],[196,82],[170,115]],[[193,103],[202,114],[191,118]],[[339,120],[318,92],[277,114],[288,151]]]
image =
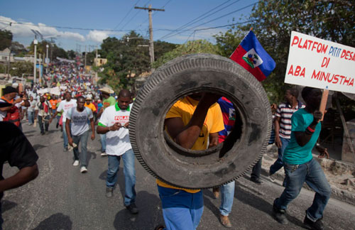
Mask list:
[[[214,92],[236,107],[234,131],[217,147],[181,148],[166,138],[165,114],[181,97]],[[151,75],[131,110],[129,135],[138,161],[154,177],[182,188],[216,187],[236,180],[266,151],[270,103],[262,85],[243,67],[218,55],[185,55]]]

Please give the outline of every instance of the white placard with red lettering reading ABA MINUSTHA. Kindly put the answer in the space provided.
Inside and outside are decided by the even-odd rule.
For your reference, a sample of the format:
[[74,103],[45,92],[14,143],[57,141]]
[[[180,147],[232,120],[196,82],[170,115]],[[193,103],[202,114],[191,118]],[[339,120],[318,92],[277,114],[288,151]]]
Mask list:
[[292,31],[285,83],[355,94],[355,48]]

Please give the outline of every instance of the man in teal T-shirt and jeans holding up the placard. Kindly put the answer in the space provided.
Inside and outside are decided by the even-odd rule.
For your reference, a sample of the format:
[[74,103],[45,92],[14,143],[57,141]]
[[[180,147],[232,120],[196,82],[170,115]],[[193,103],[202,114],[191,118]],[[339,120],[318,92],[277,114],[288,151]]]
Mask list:
[[[320,89],[305,87],[302,98],[305,109],[299,109],[292,116],[292,133],[290,143],[283,154],[286,187],[282,195],[273,202],[273,214],[280,224],[288,224],[286,209],[297,197],[304,182],[315,190],[315,198],[307,209],[303,223],[311,229],[323,229],[321,219],[331,189],[320,164],[312,158],[312,148],[320,136],[320,106],[322,92]],[[328,155],[327,149],[317,148],[322,155]]]

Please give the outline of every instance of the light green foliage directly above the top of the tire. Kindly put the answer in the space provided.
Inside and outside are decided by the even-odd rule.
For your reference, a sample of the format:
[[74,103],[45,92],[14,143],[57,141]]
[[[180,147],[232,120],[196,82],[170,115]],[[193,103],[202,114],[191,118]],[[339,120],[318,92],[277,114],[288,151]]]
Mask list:
[[153,67],[157,68],[165,62],[173,60],[176,57],[192,53],[212,53],[219,54],[219,49],[216,45],[209,43],[207,40],[190,40],[185,44],[178,45],[177,48],[165,53],[153,63]]

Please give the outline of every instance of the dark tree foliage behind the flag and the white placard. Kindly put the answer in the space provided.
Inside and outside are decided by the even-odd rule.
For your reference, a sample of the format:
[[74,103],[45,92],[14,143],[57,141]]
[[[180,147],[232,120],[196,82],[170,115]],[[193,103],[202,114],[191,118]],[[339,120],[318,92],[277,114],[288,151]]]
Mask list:
[[[275,70],[263,82],[271,102],[283,99],[283,81],[288,61],[291,31],[354,46],[355,4],[350,0],[333,1],[259,1],[249,20],[253,23],[230,28],[223,39],[217,40],[222,50],[235,45],[232,35],[246,34],[251,27],[263,48],[276,62]],[[237,45],[235,45],[236,48]]]

